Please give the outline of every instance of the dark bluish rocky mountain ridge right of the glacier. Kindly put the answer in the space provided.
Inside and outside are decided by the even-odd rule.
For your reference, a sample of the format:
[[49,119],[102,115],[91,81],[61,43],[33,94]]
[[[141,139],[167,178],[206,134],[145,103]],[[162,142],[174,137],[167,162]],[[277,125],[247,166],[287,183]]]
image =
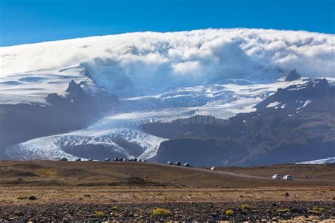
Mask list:
[[[195,116],[170,123],[146,123],[142,128],[148,133],[170,138],[161,143],[155,158],[157,162],[167,162],[165,157],[168,157],[196,165],[205,162],[250,166],[327,158],[335,152],[334,90],[326,79],[310,80],[303,85],[278,89],[255,106],[257,111],[237,114],[228,120]],[[168,133],[173,135],[166,135]],[[206,144],[204,138],[216,143]],[[193,143],[186,147],[185,140]],[[245,146],[249,155],[240,160],[225,156],[224,151],[228,148],[235,150],[238,147],[225,144],[226,140]],[[211,156],[216,154],[212,152],[215,145],[221,145],[221,156]],[[192,158],[192,148],[198,151],[199,146],[206,147],[206,152]],[[180,155],[179,150],[188,150],[187,158]],[[243,156],[243,152],[236,155]]]

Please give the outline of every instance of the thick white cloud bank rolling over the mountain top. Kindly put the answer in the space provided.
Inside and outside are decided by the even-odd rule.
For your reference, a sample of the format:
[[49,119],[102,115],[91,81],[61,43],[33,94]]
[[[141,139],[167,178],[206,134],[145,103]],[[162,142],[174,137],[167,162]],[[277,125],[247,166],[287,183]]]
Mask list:
[[0,59],[0,76],[87,62],[92,78],[107,88],[119,85],[116,79],[151,88],[167,81],[278,78],[276,67],[334,77],[335,35],[240,28],[134,32],[0,47]]

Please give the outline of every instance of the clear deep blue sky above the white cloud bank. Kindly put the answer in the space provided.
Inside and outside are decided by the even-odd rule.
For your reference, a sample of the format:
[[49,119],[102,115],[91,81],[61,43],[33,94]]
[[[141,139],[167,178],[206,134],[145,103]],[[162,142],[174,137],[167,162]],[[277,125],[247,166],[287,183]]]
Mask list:
[[335,33],[334,15],[334,0],[0,0],[0,46],[148,30]]

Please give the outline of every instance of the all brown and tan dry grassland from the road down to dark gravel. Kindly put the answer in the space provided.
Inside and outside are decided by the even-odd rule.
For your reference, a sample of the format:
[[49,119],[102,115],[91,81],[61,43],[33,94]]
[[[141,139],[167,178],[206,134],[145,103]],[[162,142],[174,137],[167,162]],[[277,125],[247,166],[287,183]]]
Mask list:
[[[298,167],[295,166],[295,171]],[[252,171],[254,167],[249,169]],[[323,171],[328,176],[327,171],[333,170],[321,165],[312,166],[313,171]],[[290,196],[284,196],[286,192]],[[38,199],[28,200],[30,195]],[[334,183],[324,181],[247,179],[225,176],[218,171],[128,162],[0,162],[0,203],[3,205],[236,200],[245,203],[242,208],[248,210],[249,201],[331,200],[334,197]]]

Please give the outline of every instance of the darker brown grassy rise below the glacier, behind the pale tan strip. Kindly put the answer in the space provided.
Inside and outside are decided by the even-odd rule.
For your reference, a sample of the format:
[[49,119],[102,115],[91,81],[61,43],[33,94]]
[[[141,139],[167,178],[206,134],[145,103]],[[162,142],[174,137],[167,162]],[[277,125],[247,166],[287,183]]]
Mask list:
[[[274,181],[274,173],[314,174],[315,181]],[[243,172],[269,179],[252,179],[220,174],[219,171],[199,171],[195,168],[170,167],[150,163],[129,162],[54,162],[1,161],[0,185],[13,186],[166,186],[195,188],[252,188],[259,186],[334,186],[334,165],[281,165],[270,167],[225,167],[224,171]],[[323,177],[323,178],[322,178]],[[332,181],[332,182],[331,182]],[[327,191],[323,190],[324,193]]]

